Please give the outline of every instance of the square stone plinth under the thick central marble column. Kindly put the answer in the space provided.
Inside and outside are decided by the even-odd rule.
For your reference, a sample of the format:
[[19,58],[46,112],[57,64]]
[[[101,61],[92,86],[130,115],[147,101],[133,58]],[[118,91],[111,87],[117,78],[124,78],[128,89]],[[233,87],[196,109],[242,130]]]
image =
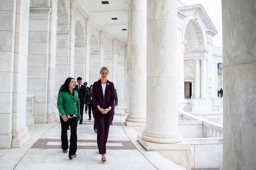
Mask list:
[[191,150],[190,144],[184,140],[178,143],[154,143],[137,136],[137,141],[146,149],[146,151],[156,151],[164,158],[168,158],[184,168],[191,169]]

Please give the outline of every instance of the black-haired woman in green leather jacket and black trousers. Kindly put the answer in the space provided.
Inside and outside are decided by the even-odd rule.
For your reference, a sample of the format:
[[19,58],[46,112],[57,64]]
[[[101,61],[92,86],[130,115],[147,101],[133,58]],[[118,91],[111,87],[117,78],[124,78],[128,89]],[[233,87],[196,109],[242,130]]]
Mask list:
[[68,152],[68,123],[70,125],[69,159],[76,158],[77,154],[77,122],[81,119],[78,91],[74,78],[67,78],[58,94],[57,107],[60,112],[61,148],[63,153]]

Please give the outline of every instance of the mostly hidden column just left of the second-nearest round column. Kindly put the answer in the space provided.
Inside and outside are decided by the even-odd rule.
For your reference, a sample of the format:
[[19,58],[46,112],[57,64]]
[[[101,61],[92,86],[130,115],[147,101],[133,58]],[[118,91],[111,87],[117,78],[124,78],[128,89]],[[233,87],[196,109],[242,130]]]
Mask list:
[[127,43],[127,104],[126,109],[124,110],[124,115],[129,115],[129,76],[130,76],[130,14],[131,14],[131,0],[126,0],[126,5],[128,6],[128,43]]

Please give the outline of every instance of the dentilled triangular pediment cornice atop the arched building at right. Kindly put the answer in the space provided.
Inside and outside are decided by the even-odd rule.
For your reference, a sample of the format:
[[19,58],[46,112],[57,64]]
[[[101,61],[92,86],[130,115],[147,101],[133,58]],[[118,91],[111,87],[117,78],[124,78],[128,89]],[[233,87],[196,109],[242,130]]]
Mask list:
[[[187,5],[177,8],[180,13],[184,14],[186,16],[186,12],[194,10],[197,14],[195,15],[195,19],[198,19],[199,17],[204,22],[206,28],[206,32],[212,36],[217,35],[218,31],[215,28],[214,24],[212,23],[210,17],[206,13],[204,7],[202,4],[196,4],[196,5]],[[179,12],[178,12],[179,13]]]

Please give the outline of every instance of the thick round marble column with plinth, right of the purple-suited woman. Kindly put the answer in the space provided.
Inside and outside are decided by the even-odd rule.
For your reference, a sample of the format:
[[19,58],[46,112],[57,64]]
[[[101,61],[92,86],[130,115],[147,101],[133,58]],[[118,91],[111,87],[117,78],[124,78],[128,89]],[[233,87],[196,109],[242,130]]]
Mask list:
[[177,55],[177,1],[147,0],[147,115],[137,140],[191,169],[190,145],[178,130]]

